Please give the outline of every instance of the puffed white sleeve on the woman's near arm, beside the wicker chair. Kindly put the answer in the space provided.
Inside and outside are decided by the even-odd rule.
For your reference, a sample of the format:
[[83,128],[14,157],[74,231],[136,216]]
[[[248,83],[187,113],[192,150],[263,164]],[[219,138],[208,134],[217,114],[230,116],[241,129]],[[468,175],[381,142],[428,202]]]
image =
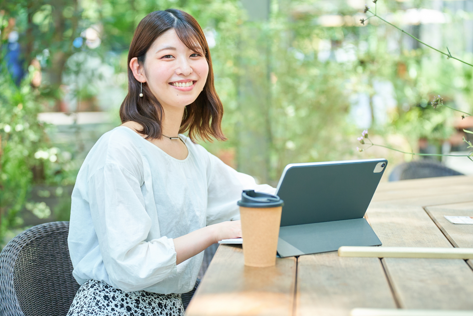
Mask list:
[[110,285],[123,291],[147,288],[176,274],[172,238],[145,241],[151,219],[140,175],[106,163],[88,181],[88,202]]

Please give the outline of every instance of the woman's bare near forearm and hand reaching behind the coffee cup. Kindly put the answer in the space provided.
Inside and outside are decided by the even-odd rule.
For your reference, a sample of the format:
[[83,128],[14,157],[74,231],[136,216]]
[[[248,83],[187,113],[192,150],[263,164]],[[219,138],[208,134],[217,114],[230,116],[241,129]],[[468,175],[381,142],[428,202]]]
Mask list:
[[241,222],[227,221],[194,230],[187,235],[174,238],[176,264],[186,261],[219,240],[241,237]]

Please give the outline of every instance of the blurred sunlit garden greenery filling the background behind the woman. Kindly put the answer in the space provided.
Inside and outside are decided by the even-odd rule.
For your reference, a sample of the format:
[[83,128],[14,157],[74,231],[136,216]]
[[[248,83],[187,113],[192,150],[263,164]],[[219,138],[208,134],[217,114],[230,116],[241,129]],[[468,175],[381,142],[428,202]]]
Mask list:
[[[463,153],[473,68],[372,18],[365,0],[2,0],[0,244],[68,220],[70,192],[95,141],[120,124],[126,58],[149,12],[178,8],[204,29],[226,142],[202,143],[228,165],[276,185],[288,163],[412,159],[356,150],[356,137],[407,152]],[[369,1],[368,6],[374,6]],[[473,0],[378,1],[377,13],[422,41],[473,60]],[[463,157],[464,158],[464,157]],[[465,158],[467,159],[467,158]],[[443,164],[465,174],[463,159]],[[0,245],[0,246],[1,246]]]

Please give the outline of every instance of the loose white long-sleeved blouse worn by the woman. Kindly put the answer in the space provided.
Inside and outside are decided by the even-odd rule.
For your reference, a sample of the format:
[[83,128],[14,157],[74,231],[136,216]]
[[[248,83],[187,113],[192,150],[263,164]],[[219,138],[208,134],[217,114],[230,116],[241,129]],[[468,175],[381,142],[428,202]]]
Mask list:
[[193,289],[203,252],[176,265],[172,238],[239,219],[242,190],[274,193],[184,135],[175,159],[128,127],[90,150],[72,192],[68,245],[79,284],[103,281],[130,292]]

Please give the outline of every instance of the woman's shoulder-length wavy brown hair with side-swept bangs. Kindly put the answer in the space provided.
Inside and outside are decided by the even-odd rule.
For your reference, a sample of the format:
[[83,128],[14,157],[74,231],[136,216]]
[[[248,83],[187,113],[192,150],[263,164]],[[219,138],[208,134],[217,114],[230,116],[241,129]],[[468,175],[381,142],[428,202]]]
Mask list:
[[[205,59],[209,64],[209,74],[204,88],[197,99],[185,107],[179,133],[189,131],[189,138],[193,142],[197,137],[210,141],[210,137],[226,140],[220,126],[223,105],[214,87],[209,45],[201,26],[193,16],[177,9],[149,13],[140,21],[135,30],[128,52],[128,65],[134,57],[137,57],[140,65],[143,65],[146,52],[148,52],[154,41],[172,28],[175,29],[179,39],[189,49],[205,54]],[[128,121],[140,123],[143,129],[138,132],[148,135],[147,138],[160,139],[162,137],[163,107],[146,83],[143,83],[143,97],[139,95],[140,82],[135,79],[130,66],[128,66],[128,95],[123,100],[122,106],[120,106],[122,123]]]

